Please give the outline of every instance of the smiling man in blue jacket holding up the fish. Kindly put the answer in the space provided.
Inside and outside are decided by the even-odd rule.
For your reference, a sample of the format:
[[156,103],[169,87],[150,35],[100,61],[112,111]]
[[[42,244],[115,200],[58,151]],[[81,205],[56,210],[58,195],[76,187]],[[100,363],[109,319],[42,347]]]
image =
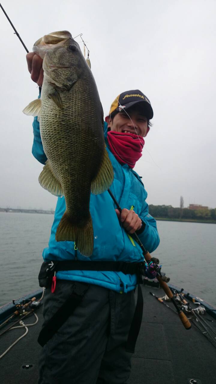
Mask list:
[[[27,63],[32,79],[41,86],[42,60],[28,53]],[[121,93],[111,105],[104,123],[106,150],[114,170],[110,190],[123,209],[120,214],[107,191],[91,195],[94,229],[91,257],[82,256],[74,242],[55,241],[56,228],[65,212],[65,199],[58,198],[49,246],[43,251],[43,258],[48,262],[46,266],[51,261],[58,260],[61,264],[69,260],[73,265],[82,265],[83,270],[56,269],[52,287],[47,286],[44,324],[38,339],[43,345],[39,384],[124,384],[130,376],[131,352],[127,341],[135,313],[137,275],[115,268],[91,269],[91,266],[95,262],[104,262],[103,265],[142,262],[141,248],[129,235],[135,231],[149,252],[158,247],[156,222],[149,215],[145,201],[147,193],[133,170],[152,117],[150,101],[139,90]],[[37,118],[33,132],[33,156],[45,164],[47,157]]]

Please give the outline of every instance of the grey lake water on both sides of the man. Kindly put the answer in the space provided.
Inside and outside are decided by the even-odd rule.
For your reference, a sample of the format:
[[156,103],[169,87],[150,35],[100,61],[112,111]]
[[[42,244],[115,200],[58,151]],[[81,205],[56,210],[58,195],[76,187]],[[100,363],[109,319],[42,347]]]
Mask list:
[[[0,212],[0,306],[37,290],[53,215]],[[154,257],[170,283],[216,306],[216,224],[158,221]]]

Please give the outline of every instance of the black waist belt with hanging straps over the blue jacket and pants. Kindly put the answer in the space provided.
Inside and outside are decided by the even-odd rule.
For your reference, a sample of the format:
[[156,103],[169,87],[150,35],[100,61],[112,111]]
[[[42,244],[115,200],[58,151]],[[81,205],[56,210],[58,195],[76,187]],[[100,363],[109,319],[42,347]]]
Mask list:
[[[50,261],[43,262],[40,273],[38,276],[39,285],[46,288],[51,285],[52,277],[57,271],[73,271],[73,270],[85,270],[85,271],[116,271],[123,272],[131,275],[136,274],[138,276],[138,296],[136,302],[135,313],[131,323],[130,331],[128,333],[128,341],[126,344],[126,351],[134,353],[136,340],[140,331],[142,316],[143,316],[143,295],[140,287],[142,283],[141,275],[143,274],[144,263],[127,263],[127,262],[100,262],[100,261],[78,261],[78,260],[66,260],[66,261]],[[61,325],[66,319],[73,313],[75,308],[79,305],[85,295],[86,283],[81,284],[83,290],[78,293],[73,292],[71,296],[65,301],[65,303],[58,309],[53,317],[42,328],[38,343],[43,347],[49,339],[58,331]],[[89,285],[87,285],[88,287]],[[69,304],[70,302],[70,304]],[[73,305],[71,305],[73,302]]]

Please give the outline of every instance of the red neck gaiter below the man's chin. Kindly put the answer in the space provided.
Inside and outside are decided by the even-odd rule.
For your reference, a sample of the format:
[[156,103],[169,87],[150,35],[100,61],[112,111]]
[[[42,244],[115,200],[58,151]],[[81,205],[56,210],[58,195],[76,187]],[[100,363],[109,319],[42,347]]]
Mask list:
[[109,131],[107,139],[111,152],[118,162],[134,168],[136,161],[142,156],[141,152],[145,144],[143,137],[134,133]]

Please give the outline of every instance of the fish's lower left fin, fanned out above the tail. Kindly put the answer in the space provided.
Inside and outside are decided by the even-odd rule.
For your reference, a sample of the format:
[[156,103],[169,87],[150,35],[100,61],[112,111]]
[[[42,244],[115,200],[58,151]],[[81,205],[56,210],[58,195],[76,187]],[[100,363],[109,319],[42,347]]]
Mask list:
[[52,167],[48,160],[40,173],[38,181],[44,189],[48,190],[53,195],[58,197],[63,195],[61,184],[53,174]]

